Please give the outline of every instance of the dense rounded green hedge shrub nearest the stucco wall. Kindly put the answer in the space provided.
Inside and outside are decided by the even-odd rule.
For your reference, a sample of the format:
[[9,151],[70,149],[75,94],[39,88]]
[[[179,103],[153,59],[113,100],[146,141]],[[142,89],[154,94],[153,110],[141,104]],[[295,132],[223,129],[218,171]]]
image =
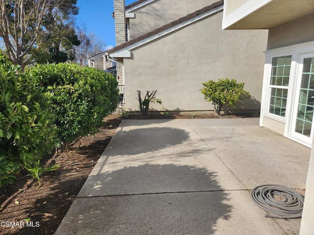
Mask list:
[[26,74],[50,100],[58,137],[65,147],[80,136],[97,132],[103,118],[117,108],[117,80],[104,71],[66,63],[38,65]]

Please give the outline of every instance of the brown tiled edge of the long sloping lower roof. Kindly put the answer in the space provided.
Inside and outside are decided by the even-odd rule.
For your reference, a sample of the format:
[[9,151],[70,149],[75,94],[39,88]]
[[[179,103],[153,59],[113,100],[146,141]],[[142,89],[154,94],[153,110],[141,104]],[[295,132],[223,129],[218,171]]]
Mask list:
[[186,16],[184,16],[184,17],[182,17],[182,18],[180,18],[180,19],[178,19],[176,21],[173,21],[173,22],[171,22],[169,24],[165,24],[165,25],[163,25],[161,27],[158,27],[158,28],[148,32],[148,33],[145,33],[145,34],[143,34],[141,36],[133,38],[133,39],[131,39],[128,42],[125,42],[125,43],[120,44],[120,45],[118,45],[116,47],[113,47],[113,48],[107,50],[107,52],[110,54],[110,53],[116,52],[118,50],[121,50],[121,49],[123,49],[125,47],[131,46],[132,44],[135,44],[135,43],[140,42],[140,41],[142,41],[144,39],[152,37],[152,36],[162,32],[162,31],[164,31],[166,29],[169,29],[169,28],[171,28],[171,27],[173,27],[175,25],[181,24],[183,22],[186,22],[186,21],[190,20],[191,18],[197,17],[198,15],[201,15],[201,14],[203,14],[203,13],[209,11],[209,10],[212,10],[212,9],[214,9],[217,6],[223,5],[223,3],[224,3],[223,0],[216,1],[216,2],[214,2],[212,4],[210,4],[209,6],[203,7],[202,9],[199,9],[199,10],[193,12],[193,13],[190,13],[190,14],[188,14],[188,15],[186,15]]

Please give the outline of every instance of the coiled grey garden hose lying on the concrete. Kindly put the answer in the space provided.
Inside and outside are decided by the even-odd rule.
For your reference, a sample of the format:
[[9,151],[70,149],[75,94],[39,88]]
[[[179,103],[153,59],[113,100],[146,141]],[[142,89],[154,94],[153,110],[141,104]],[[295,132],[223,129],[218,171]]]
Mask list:
[[265,217],[301,218],[304,196],[298,191],[281,185],[260,185],[252,189],[251,198],[258,206],[272,214]]

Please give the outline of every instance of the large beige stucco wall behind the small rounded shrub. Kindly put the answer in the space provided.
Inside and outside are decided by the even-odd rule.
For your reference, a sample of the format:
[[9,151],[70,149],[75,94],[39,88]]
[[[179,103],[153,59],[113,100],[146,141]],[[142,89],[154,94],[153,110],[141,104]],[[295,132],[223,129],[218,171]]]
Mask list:
[[126,107],[138,111],[137,90],[157,90],[162,110],[213,110],[202,82],[219,78],[245,82],[255,98],[237,109],[259,110],[266,30],[221,30],[222,11],[131,51],[124,59]]

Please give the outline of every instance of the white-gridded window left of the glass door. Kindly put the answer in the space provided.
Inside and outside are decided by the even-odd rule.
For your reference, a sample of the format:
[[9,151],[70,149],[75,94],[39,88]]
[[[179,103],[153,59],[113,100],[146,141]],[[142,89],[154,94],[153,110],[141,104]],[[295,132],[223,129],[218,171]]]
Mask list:
[[287,55],[272,60],[268,112],[281,117],[286,116],[291,58],[291,55]]

